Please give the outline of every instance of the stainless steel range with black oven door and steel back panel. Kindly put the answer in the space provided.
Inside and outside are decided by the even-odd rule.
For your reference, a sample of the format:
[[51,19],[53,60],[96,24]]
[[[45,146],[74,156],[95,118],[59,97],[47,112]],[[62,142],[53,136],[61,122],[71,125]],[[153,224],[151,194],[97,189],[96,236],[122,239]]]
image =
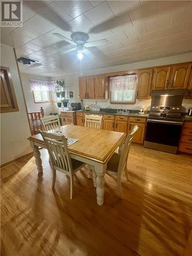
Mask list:
[[188,90],[154,90],[147,118],[144,147],[177,153],[184,111],[182,101]]

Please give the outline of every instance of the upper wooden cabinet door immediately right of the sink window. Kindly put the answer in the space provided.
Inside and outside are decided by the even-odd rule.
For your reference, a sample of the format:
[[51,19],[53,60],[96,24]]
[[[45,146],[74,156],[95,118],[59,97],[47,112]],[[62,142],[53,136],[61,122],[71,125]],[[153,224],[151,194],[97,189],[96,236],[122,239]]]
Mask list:
[[149,99],[151,96],[153,69],[138,71],[137,98]]

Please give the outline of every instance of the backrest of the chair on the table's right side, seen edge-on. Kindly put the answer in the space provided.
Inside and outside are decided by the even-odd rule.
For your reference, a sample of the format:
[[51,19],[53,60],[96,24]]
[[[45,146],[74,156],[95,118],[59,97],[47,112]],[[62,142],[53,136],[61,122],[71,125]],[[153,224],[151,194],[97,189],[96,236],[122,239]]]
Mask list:
[[139,129],[139,126],[135,125],[134,128],[133,128],[132,133],[130,133],[126,137],[126,140],[125,140],[124,145],[123,145],[121,157],[120,157],[120,160],[119,160],[118,175],[121,175],[121,172],[126,167],[127,158],[128,158],[129,152],[130,152],[131,143],[132,143],[134,134],[138,131],[138,129]]

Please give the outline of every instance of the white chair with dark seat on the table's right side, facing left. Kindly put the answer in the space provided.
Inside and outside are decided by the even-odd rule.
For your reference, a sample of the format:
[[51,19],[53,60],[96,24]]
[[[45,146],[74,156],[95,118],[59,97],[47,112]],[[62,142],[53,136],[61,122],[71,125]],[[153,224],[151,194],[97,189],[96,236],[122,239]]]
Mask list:
[[[132,143],[132,139],[134,137],[134,134],[139,129],[138,125],[135,125],[133,131],[131,134],[129,134],[126,137],[126,140],[123,145],[123,149],[121,152],[121,155],[117,153],[113,153],[112,157],[108,161],[107,167],[106,167],[106,174],[115,175],[117,177],[117,185],[118,185],[118,191],[119,191],[119,197],[122,197],[122,189],[121,189],[121,174],[124,171],[126,180],[129,180],[128,173],[127,173],[127,158],[130,152],[130,147]],[[92,170],[95,172],[94,170]],[[95,177],[95,175],[93,175]],[[95,183],[96,181],[94,181]]]

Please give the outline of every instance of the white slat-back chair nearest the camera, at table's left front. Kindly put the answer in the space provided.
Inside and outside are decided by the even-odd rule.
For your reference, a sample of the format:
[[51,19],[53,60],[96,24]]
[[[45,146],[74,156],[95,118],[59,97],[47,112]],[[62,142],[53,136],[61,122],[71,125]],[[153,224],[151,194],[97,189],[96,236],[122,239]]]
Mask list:
[[86,164],[78,160],[71,159],[65,136],[55,135],[42,131],[40,131],[40,134],[45,141],[51,160],[51,167],[53,172],[52,188],[54,189],[55,187],[56,170],[68,175],[70,177],[70,199],[72,199],[73,176]]

